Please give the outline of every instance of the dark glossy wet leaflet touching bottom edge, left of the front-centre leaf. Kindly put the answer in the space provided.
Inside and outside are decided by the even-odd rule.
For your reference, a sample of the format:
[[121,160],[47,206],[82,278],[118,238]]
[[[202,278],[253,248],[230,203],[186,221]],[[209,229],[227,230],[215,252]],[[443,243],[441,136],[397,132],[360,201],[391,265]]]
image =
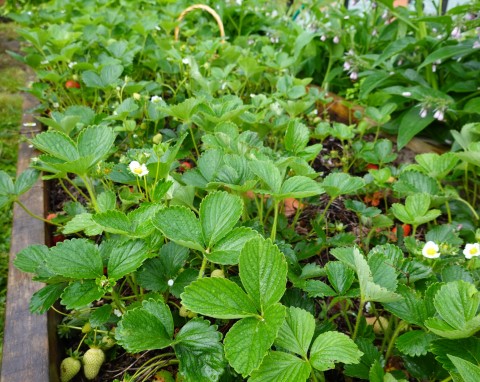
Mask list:
[[190,381],[215,382],[225,368],[221,333],[216,326],[195,318],[180,329],[173,348],[180,373]]

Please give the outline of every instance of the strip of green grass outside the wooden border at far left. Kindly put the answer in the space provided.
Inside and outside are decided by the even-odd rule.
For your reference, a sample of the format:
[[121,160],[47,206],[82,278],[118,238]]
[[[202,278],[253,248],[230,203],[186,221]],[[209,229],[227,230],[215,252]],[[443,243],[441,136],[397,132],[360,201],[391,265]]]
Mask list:
[[[18,89],[25,84],[25,72],[6,50],[13,46],[14,26],[0,23],[0,170],[15,176],[22,96]],[[3,350],[3,327],[7,294],[8,260],[12,208],[0,210],[0,357]]]

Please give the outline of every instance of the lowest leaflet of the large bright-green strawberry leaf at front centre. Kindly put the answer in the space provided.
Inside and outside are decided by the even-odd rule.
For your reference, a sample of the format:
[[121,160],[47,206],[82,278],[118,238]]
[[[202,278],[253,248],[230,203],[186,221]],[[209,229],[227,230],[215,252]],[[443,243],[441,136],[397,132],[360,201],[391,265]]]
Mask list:
[[285,318],[279,303],[265,309],[262,317],[247,317],[236,322],[225,336],[225,357],[244,377],[257,369],[277,337]]

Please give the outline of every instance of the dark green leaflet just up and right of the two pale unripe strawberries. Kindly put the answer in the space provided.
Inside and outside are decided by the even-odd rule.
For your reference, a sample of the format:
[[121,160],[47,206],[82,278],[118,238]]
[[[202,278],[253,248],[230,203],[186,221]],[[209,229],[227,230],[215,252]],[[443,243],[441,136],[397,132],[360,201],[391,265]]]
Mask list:
[[163,349],[172,344],[173,319],[170,309],[160,301],[144,301],[127,311],[115,331],[119,345],[131,353]]

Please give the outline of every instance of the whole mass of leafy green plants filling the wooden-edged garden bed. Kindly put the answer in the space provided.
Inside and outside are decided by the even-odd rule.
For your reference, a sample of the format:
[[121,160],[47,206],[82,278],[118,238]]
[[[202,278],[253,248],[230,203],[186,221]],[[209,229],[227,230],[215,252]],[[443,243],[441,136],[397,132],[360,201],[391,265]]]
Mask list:
[[[474,65],[432,61],[463,43],[427,26],[450,36],[455,15],[478,9],[416,19],[387,1],[371,14],[212,4],[225,38],[195,13],[175,41],[185,2],[52,1],[12,15],[47,129],[30,140],[41,154],[29,170],[0,172],[0,204],[22,207],[40,173],[68,197],[37,217],[56,245],[15,260],[46,284],[32,312],[63,307],[75,350],[62,380],[82,363],[94,379],[124,353],[150,357],[102,380],[478,380],[480,125],[405,164],[379,136],[400,121],[405,144],[420,130],[402,133],[412,110],[415,123],[454,114],[449,101],[424,117],[426,104],[404,99],[437,97],[448,65]],[[445,78],[476,84],[465,68]],[[334,83],[370,105],[356,123],[325,112]]]

